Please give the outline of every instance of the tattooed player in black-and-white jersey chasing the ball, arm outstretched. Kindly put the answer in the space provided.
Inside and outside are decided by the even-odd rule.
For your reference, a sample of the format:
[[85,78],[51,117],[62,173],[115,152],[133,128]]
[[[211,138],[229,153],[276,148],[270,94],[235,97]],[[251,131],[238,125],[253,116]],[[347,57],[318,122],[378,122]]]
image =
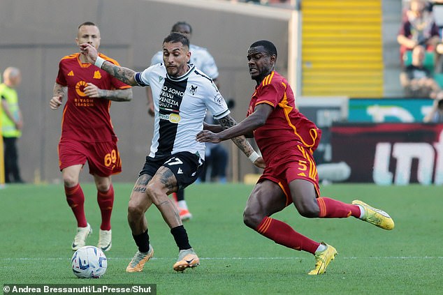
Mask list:
[[[196,135],[203,130],[206,110],[215,114],[215,119],[223,128],[236,124],[229,115],[224,98],[210,77],[188,63],[191,56],[189,40],[180,33],[170,33],[164,39],[164,63],[140,73],[101,59],[89,44],[82,44],[80,48],[90,63],[118,80],[132,86],[150,85],[155,98],[154,137],[150,154],[146,157],[129,200],[128,222],[138,251],[126,271],[142,271],[145,262],[154,254],[145,217],[152,204],[161,212],[179,248],[173,269],[184,271],[198,266],[198,256],[189,244],[177,207],[168,195],[189,186],[201,172],[205,145],[196,141]],[[215,130],[215,126],[205,125],[205,128],[220,131]],[[252,149],[245,137],[235,137],[233,142],[254,165],[264,167],[263,158]]]

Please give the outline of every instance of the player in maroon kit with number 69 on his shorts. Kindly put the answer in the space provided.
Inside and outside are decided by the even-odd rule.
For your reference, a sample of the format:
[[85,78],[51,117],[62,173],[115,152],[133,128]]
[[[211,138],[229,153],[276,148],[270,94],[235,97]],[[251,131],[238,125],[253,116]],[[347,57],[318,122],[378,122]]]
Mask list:
[[[89,43],[98,49],[99,28],[92,22],[80,24],[75,42],[77,45]],[[108,56],[100,56],[119,65]],[[111,175],[122,172],[117,136],[109,114],[110,101],[131,100],[132,89],[90,64],[83,54],[75,53],[64,56],[59,62],[59,73],[50,100],[51,109],[58,109],[66,94],[58,150],[66,200],[77,220],[77,234],[71,248],[77,250],[84,246],[87,236],[92,233],[83,207],[85,195],[78,181],[83,165],[88,162],[101,211],[97,246],[108,251],[112,245],[110,217],[114,203]]]

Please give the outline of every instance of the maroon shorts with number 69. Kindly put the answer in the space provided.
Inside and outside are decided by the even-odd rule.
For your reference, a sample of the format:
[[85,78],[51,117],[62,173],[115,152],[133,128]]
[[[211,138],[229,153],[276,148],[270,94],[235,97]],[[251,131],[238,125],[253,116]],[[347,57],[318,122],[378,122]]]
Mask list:
[[78,142],[62,139],[59,142],[60,171],[73,165],[85,165],[89,174],[108,177],[122,172],[122,160],[115,142]]

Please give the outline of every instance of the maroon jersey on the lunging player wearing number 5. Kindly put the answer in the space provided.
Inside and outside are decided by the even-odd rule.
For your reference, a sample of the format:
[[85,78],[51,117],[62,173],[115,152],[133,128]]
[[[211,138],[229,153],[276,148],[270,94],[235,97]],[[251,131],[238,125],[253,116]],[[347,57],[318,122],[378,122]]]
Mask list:
[[311,154],[317,149],[321,130],[298,112],[291,86],[279,73],[273,71],[256,87],[247,116],[261,103],[274,109],[266,123],[254,130],[254,139],[267,165],[275,156],[282,158],[299,145]]

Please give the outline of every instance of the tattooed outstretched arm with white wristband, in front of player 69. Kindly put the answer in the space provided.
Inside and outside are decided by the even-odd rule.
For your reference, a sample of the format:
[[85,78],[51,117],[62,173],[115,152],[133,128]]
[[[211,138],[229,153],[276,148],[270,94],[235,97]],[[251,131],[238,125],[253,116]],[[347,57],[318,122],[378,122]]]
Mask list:
[[124,84],[138,86],[138,83],[136,82],[136,72],[134,70],[124,68],[122,66],[115,66],[114,63],[105,61],[99,56],[95,47],[90,44],[80,44],[80,51],[86,56],[89,63],[92,63],[102,70],[105,70],[113,77],[122,81]]

